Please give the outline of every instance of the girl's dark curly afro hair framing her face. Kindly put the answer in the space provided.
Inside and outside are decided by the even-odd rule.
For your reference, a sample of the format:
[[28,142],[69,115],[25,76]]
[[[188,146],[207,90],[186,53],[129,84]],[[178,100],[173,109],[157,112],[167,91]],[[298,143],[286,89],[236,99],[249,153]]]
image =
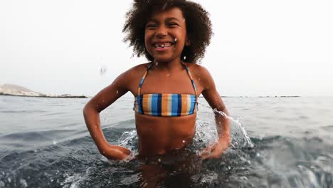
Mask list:
[[184,46],[181,60],[192,63],[203,58],[213,35],[211,20],[208,12],[200,4],[186,0],[134,0],[132,9],[126,14],[126,22],[122,29],[122,32],[126,33],[124,41],[129,41],[129,46],[133,46],[133,55],[144,55],[149,61],[154,60],[144,46],[144,27],[154,11],[174,7],[183,12],[187,37],[191,41],[190,46]]

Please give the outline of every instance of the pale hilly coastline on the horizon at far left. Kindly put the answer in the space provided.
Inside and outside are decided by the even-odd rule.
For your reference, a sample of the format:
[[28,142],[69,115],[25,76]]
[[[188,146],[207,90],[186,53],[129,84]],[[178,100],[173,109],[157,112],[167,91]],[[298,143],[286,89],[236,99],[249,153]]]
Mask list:
[[35,97],[35,98],[88,98],[85,95],[71,94],[45,94],[24,88],[20,85],[4,84],[0,85],[0,95],[18,96],[18,97]]

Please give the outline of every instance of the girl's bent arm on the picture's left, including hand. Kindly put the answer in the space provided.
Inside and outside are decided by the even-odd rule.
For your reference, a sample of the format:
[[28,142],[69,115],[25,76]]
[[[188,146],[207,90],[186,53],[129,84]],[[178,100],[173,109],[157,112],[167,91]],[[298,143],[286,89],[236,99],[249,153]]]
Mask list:
[[102,155],[110,160],[124,160],[130,151],[125,147],[110,145],[105,139],[100,126],[100,112],[127,93],[129,74],[122,73],[115,81],[95,95],[83,108],[85,124],[91,137]]

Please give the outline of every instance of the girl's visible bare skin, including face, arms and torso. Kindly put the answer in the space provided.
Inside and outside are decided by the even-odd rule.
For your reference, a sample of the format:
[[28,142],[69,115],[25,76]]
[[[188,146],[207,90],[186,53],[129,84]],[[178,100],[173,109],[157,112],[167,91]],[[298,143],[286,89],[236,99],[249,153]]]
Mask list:
[[[141,94],[145,93],[181,93],[194,94],[186,69],[181,64],[181,51],[190,45],[186,36],[186,23],[181,10],[172,8],[155,12],[145,27],[145,45],[149,54],[154,57],[152,68],[144,79]],[[176,40],[175,40],[176,38]],[[161,48],[165,44],[165,48]],[[107,88],[97,93],[83,110],[85,122],[98,149],[105,157],[112,160],[123,160],[130,153],[125,147],[110,145],[105,140],[100,127],[100,111],[107,108],[122,95],[131,92],[138,95],[139,82],[149,63],[135,66],[118,76]],[[202,93],[211,108],[228,114],[216,91],[210,73],[195,63],[186,63],[196,83],[197,93]],[[228,120],[216,114],[219,140],[216,145],[207,148],[206,157],[219,157],[229,145],[230,126]],[[152,156],[178,150],[188,145],[195,134],[196,113],[181,117],[157,117],[135,113],[135,125],[139,138],[139,155]],[[218,147],[216,147],[218,146]]]

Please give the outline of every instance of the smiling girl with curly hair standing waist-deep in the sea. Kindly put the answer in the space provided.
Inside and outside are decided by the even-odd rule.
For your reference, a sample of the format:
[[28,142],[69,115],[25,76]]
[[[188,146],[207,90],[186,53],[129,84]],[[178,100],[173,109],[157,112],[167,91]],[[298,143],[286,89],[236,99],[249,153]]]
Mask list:
[[210,43],[208,12],[186,0],[136,0],[126,18],[125,41],[149,63],[122,73],[85,105],[85,123],[100,153],[110,160],[124,160],[130,154],[127,148],[105,140],[99,115],[129,91],[135,98],[139,156],[166,155],[189,145],[195,135],[200,94],[216,109],[218,130],[216,144],[201,157],[221,156],[230,145],[228,112],[210,73],[195,63]]

